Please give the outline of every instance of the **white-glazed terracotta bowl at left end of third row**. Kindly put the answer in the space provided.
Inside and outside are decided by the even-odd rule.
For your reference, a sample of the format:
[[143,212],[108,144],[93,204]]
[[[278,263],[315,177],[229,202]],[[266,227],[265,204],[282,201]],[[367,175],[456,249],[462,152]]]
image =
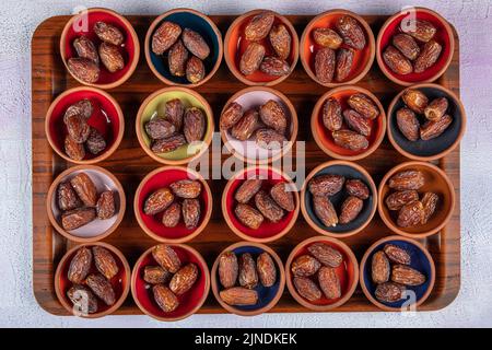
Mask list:
[[[113,190],[113,192],[117,195],[115,196],[116,213],[110,219],[101,220],[96,218],[94,221],[82,228],[66,231],[61,226],[61,211],[57,205],[57,188],[58,185],[70,180],[80,173],[85,173],[91,177],[98,195],[105,190]],[[51,225],[68,240],[80,243],[101,241],[110,235],[121,223],[125,215],[125,209],[126,196],[119,180],[107,170],[95,165],[78,165],[69,167],[55,178],[48,189],[48,195],[46,196],[46,210]]]

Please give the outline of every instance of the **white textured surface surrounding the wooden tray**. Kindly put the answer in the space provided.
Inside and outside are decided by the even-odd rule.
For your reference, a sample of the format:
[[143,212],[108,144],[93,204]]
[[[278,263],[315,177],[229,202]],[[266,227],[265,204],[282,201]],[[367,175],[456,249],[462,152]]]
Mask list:
[[[44,312],[32,292],[31,36],[43,20],[77,5],[122,14],[160,14],[172,7],[204,13],[242,13],[257,7],[317,14],[343,7],[361,14],[393,14],[403,5],[430,7],[457,28],[461,98],[468,130],[461,143],[461,291],[447,308],[399,314],[272,314],[253,318],[196,315],[161,324],[145,316],[84,320]],[[461,327],[492,326],[492,1],[241,0],[241,1],[28,1],[0,8],[0,326],[8,327]]]

